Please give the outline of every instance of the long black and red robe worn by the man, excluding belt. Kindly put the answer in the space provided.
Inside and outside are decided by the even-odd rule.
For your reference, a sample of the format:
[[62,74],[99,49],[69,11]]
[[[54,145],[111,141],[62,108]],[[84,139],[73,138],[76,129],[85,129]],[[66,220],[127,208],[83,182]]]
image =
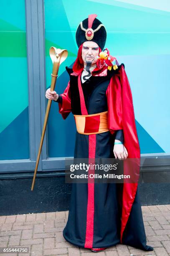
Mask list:
[[[101,72],[92,72],[92,76],[81,83],[85,110],[78,84],[82,69],[79,75],[68,67],[66,70],[70,81],[58,98],[63,119],[70,112],[74,115],[87,112],[90,115],[108,111],[109,131],[93,136],[76,132],[74,158],[89,158],[90,154],[95,158],[114,158],[114,139],[117,136],[122,140],[122,133],[117,131],[123,131],[128,157],[140,159],[132,93],[124,64],[119,65],[116,71],[109,71],[106,67]],[[152,251],[153,248],[146,245],[138,184],[73,183],[63,236],[83,248],[103,248],[122,243]]]

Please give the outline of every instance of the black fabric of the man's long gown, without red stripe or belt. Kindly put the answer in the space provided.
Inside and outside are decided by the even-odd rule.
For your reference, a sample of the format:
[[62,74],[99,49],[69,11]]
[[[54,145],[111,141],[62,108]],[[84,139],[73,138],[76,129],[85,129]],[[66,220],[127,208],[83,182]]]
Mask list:
[[[121,65],[119,66],[119,68]],[[70,75],[69,97],[71,98],[71,112],[81,115],[80,97],[78,89],[78,77],[71,75],[72,69],[66,67]],[[107,76],[91,76],[86,82],[81,83],[84,100],[88,114],[101,113],[108,110],[106,91],[114,70],[108,71]],[[59,95],[58,103],[62,105],[62,95]],[[74,158],[88,158],[89,135],[76,132]],[[115,137],[123,141],[122,131],[112,135],[109,131],[96,134],[96,158],[114,158],[113,147]],[[122,186],[116,183],[94,184],[94,227],[92,248],[103,248],[120,243],[121,212],[122,212]],[[73,183],[71,201],[69,205],[69,217],[63,230],[64,238],[70,243],[86,246],[87,239],[87,200],[88,184]],[[145,228],[142,219],[139,191],[135,195],[134,203],[129,215],[126,228],[123,233],[122,243],[144,251],[152,251],[151,246],[146,245]]]

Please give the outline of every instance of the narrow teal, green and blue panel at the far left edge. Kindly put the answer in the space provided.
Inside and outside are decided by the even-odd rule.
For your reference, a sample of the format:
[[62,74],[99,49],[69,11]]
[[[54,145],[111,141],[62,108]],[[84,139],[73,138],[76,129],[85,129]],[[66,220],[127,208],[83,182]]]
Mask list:
[[0,160],[29,159],[25,1],[0,1]]

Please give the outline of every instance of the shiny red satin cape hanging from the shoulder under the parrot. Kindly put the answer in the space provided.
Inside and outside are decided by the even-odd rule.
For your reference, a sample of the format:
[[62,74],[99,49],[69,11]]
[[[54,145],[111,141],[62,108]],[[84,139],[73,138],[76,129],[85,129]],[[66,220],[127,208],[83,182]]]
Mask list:
[[[115,130],[123,129],[124,133],[124,146],[128,152],[127,160],[124,160],[124,174],[132,174],[134,180],[133,183],[127,183],[127,180],[124,180],[123,185],[120,238],[122,243],[123,232],[134,202],[140,174],[140,146],[135,125],[132,92],[123,65],[110,80],[107,88],[107,103],[110,132],[114,133]],[[132,161],[129,162],[129,159]]]

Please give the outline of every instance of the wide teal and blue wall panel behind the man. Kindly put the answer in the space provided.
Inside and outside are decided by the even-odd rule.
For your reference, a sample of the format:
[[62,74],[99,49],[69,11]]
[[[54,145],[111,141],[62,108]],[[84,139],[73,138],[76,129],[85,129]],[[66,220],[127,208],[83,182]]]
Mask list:
[[[98,15],[97,18],[107,29],[106,47],[119,63],[125,65],[132,90],[141,153],[170,153],[170,3],[58,0],[56,4],[55,0],[45,0],[44,4],[46,39],[74,55],[78,50],[75,40],[77,26],[89,14]],[[75,59],[76,56],[69,56],[61,64],[56,84],[58,93],[63,92],[69,79],[64,74],[65,66],[71,65]],[[52,69],[49,57],[46,57],[46,67],[49,87]],[[69,132],[73,136],[75,133],[74,120],[70,115],[68,120],[62,120],[56,105],[53,102],[48,123],[48,153],[53,157],[72,156],[74,143],[71,139],[72,148],[67,148],[66,134]]]

